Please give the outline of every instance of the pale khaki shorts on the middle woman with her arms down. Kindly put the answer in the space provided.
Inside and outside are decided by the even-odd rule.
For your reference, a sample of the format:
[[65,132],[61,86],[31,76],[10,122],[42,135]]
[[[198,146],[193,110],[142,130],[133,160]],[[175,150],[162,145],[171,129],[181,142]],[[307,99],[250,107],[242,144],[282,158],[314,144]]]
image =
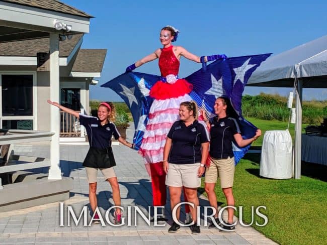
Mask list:
[[174,164],[170,163],[166,176],[166,185],[172,187],[198,188],[201,185],[201,177],[198,170],[201,163]]

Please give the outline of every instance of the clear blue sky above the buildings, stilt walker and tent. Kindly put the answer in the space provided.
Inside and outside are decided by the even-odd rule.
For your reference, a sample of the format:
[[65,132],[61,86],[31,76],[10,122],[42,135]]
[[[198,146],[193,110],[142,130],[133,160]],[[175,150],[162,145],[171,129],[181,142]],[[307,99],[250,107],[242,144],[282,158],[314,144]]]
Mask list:
[[[278,54],[326,35],[326,1],[146,1],[62,0],[95,16],[82,48],[108,49],[99,84],[160,48],[159,32],[166,25],[181,31],[174,45],[198,56],[228,57]],[[181,59],[180,77],[200,64]],[[136,69],[159,74],[157,60]],[[244,94],[288,94],[290,88],[247,87]],[[91,86],[91,99],[121,101],[108,88]],[[304,89],[303,98],[327,99],[327,88]]]

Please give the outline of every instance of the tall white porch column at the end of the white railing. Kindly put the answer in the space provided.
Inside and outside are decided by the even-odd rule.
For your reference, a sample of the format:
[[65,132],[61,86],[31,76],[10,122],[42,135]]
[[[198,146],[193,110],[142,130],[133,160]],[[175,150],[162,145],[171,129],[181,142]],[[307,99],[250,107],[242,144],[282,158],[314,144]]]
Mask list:
[[[59,35],[50,33],[50,100],[59,101]],[[59,109],[53,105],[50,108],[50,130],[55,134],[52,136],[50,144],[50,161],[49,180],[60,180],[61,170],[59,167],[60,150],[59,150],[59,134],[60,134],[60,113]]]

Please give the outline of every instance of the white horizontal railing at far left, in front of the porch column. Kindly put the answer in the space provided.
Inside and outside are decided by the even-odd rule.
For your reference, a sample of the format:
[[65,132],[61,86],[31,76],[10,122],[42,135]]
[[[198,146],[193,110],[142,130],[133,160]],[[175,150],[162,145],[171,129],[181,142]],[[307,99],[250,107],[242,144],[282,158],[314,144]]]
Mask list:
[[[13,144],[20,144],[20,143],[51,141],[51,137],[53,135],[54,133],[52,132],[44,132],[44,131],[9,130],[7,135],[0,136],[0,145],[13,145]],[[3,164],[4,166],[0,166],[0,174],[19,171],[19,170],[49,167],[51,165],[51,162],[50,160],[45,160],[41,162],[13,164],[8,160],[6,161],[4,160]],[[0,189],[2,189],[1,178],[0,178]]]

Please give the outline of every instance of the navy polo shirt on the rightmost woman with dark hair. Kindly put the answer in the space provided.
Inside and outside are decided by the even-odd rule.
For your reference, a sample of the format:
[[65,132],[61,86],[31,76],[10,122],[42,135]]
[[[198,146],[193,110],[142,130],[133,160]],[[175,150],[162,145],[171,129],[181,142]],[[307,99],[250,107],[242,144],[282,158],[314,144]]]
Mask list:
[[236,120],[232,117],[210,119],[210,156],[226,159],[234,156],[232,142],[235,134],[240,134]]

